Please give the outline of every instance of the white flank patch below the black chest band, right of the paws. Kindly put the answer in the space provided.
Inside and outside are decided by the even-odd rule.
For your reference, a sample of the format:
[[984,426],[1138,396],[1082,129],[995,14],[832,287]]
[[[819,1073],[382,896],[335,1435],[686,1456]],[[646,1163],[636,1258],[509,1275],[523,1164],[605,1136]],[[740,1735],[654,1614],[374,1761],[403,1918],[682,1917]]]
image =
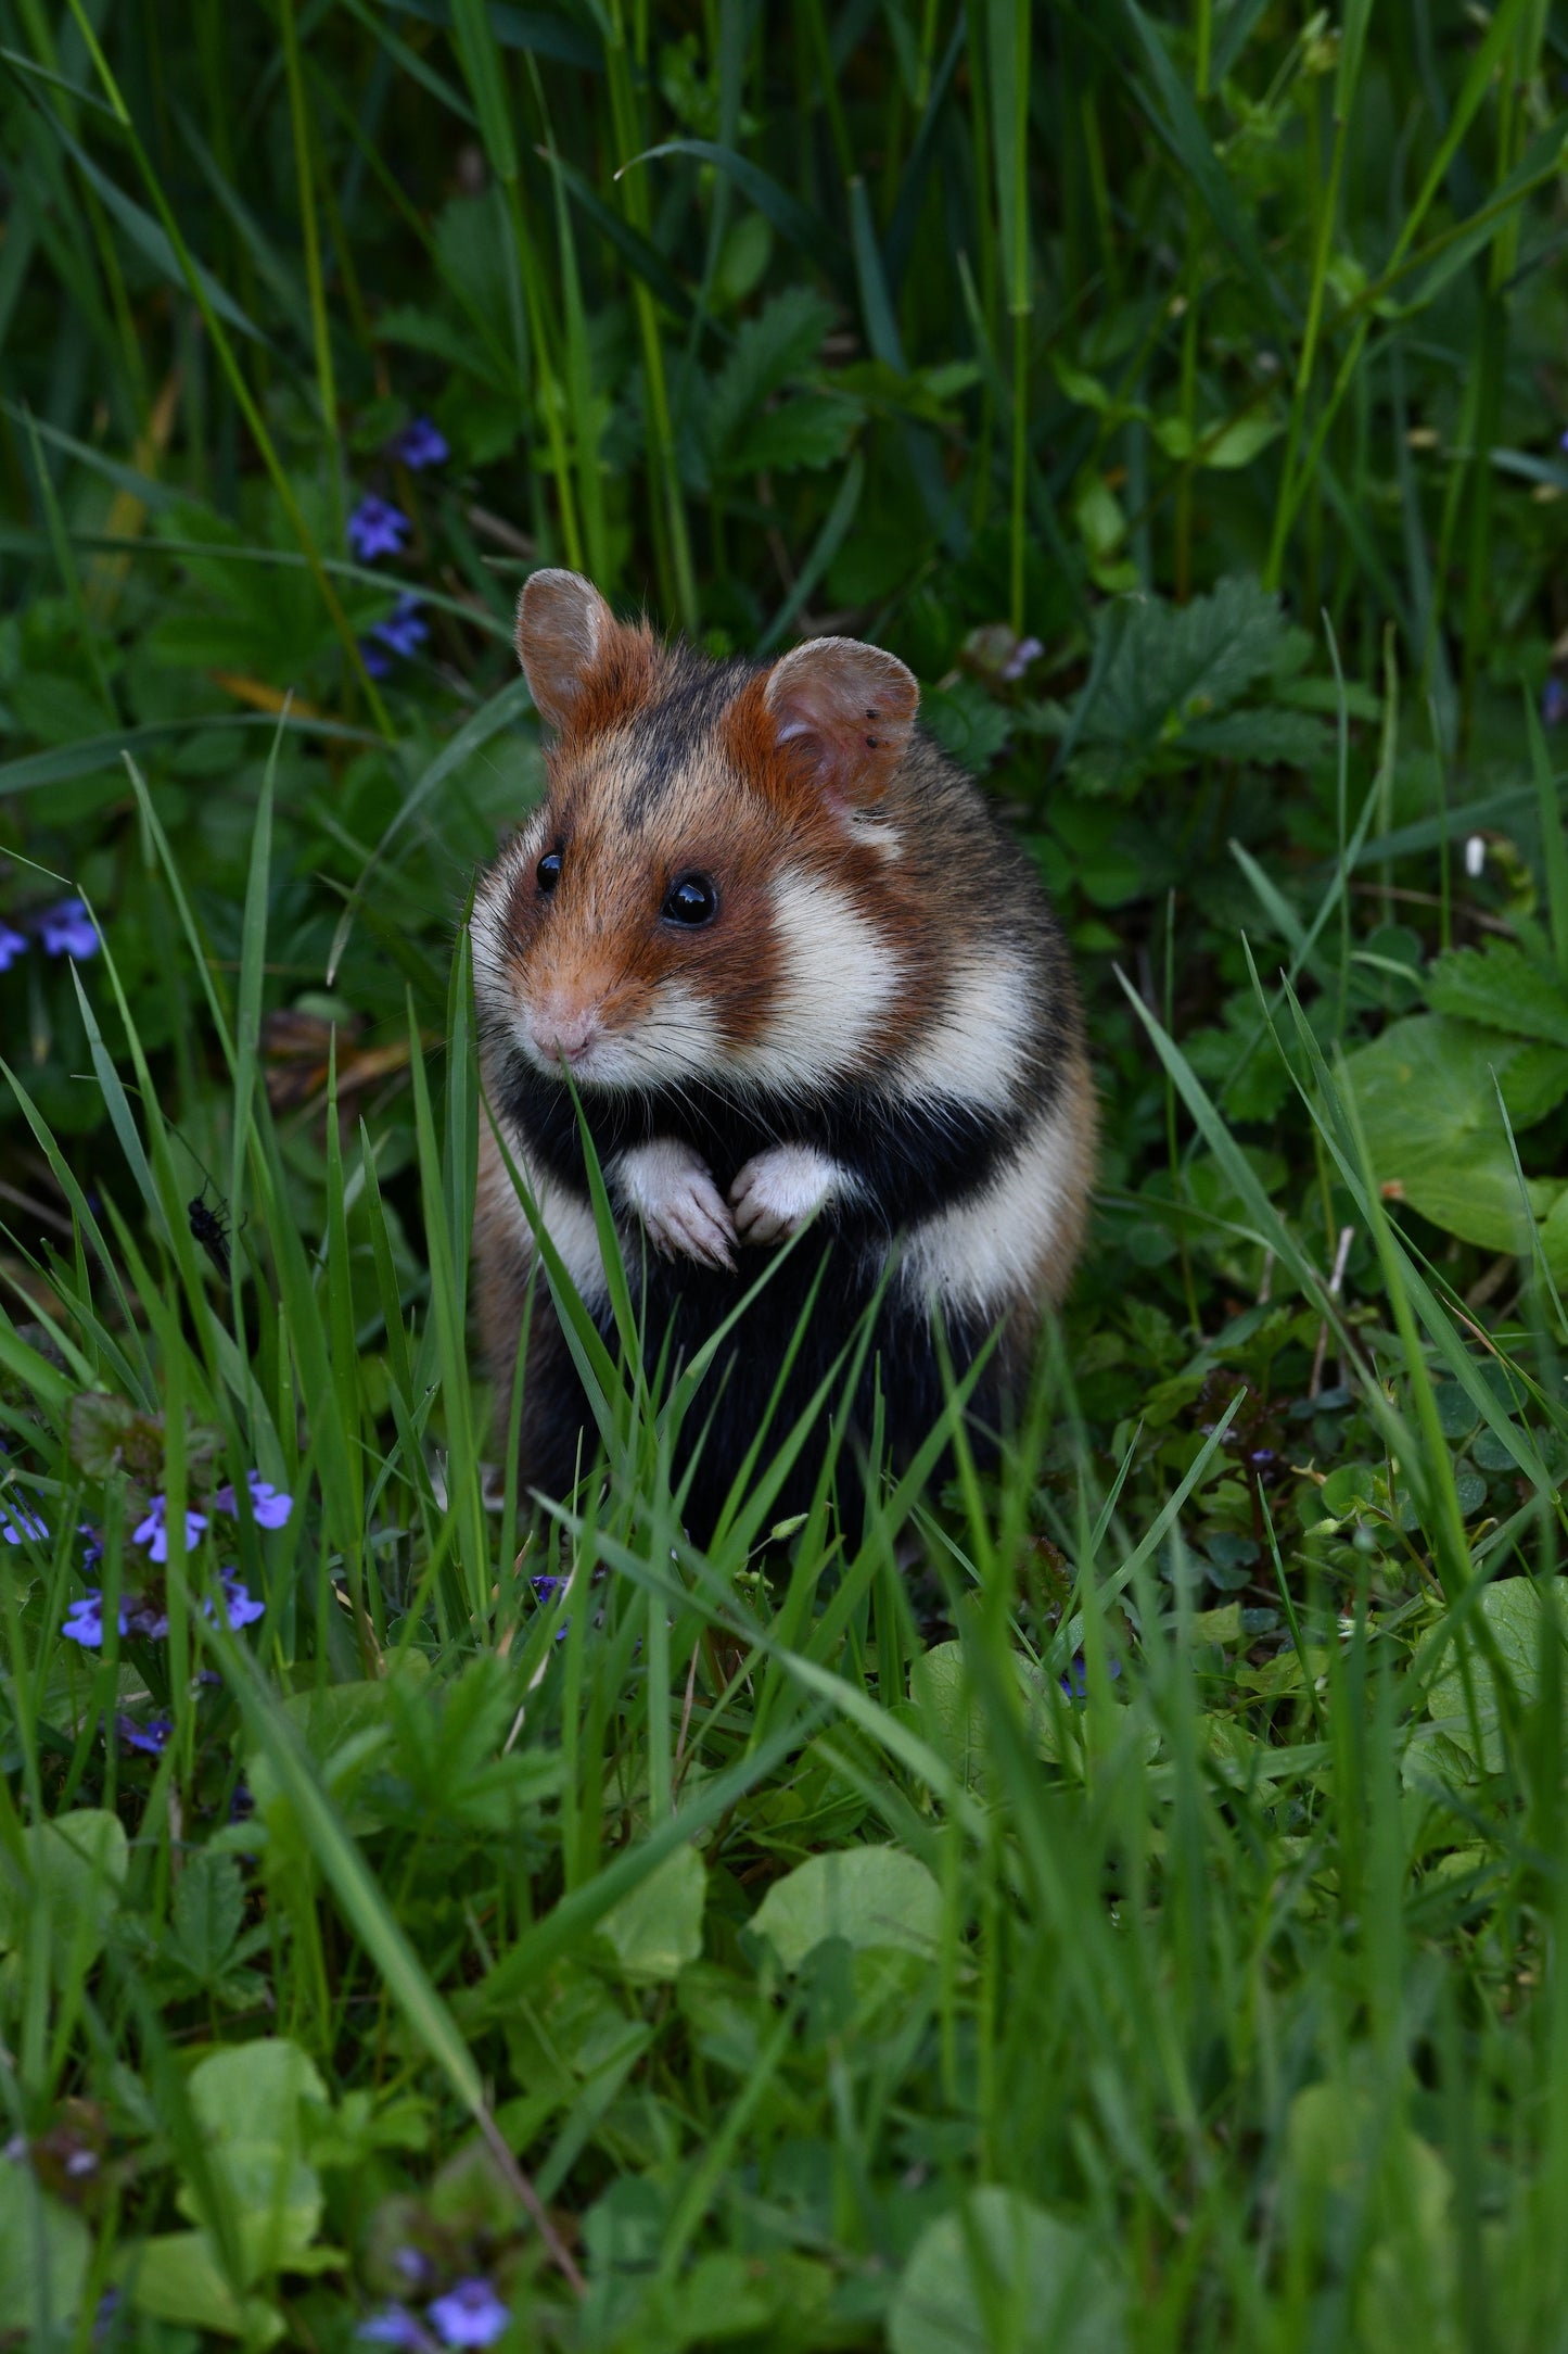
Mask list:
[[910,1226],[900,1283],[919,1299],[1001,1316],[1034,1297],[1051,1243],[1074,1217],[1079,1186],[1079,1146],[1065,1106],[1056,1106],[980,1193]]

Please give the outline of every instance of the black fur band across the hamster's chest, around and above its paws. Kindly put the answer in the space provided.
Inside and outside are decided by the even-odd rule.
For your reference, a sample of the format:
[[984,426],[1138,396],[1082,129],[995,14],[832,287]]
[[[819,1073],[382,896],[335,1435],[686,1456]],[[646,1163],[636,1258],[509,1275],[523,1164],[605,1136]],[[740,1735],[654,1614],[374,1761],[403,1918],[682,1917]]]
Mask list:
[[[515,1052],[498,1095],[538,1165],[588,1198],[571,1092]],[[858,1179],[858,1198],[827,1212],[837,1233],[858,1238],[889,1238],[976,1193],[1013,1144],[1009,1123],[985,1106],[954,1097],[900,1102],[853,1080],[790,1104],[748,1102],[712,1085],[585,1090],[581,1102],[602,1165],[672,1137],[703,1156],[719,1193],[729,1193],[752,1153],[809,1144]]]

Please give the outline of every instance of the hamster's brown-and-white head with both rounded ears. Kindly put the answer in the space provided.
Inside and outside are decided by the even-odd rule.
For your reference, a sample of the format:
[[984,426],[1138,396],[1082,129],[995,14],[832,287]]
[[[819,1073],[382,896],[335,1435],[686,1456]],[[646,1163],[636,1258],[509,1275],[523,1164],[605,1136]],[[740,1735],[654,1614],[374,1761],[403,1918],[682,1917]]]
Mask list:
[[884,810],[919,699],[903,661],[849,638],[708,661],[574,572],[527,581],[517,652],[555,742],[475,897],[491,1050],[585,1090],[788,1095],[875,1066],[919,993]]

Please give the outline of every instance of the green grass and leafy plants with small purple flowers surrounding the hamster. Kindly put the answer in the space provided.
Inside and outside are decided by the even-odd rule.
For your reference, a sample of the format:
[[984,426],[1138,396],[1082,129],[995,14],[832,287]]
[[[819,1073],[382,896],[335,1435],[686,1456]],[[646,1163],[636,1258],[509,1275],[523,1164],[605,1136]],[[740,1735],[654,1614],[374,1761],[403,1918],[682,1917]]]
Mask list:
[[[1561,24],[0,24],[0,2342],[1566,2345]],[[498,1469],[538,563],[1037,855],[999,1471]]]

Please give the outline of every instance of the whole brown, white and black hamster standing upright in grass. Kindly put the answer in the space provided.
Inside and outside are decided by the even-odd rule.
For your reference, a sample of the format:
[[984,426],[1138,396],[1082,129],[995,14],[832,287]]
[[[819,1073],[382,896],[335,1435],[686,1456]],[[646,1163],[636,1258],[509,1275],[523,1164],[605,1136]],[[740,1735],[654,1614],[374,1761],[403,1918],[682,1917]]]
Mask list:
[[[933,1311],[957,1372],[1001,1325],[971,1415],[1001,1412],[1084,1238],[1095,1102],[1077,986],[1032,866],[919,732],[919,687],[882,647],[710,661],[548,570],[522,591],[517,652],[555,730],[548,798],[477,885],[473,972],[489,1109],[559,1257],[614,1349],[564,1071],[642,1285],[649,1368],[665,1349],[689,1361],[764,1255],[816,1222],[689,1415],[677,1481],[691,1474],[703,1542],[769,1405],[764,1464],[879,1285],[842,1492],[877,1391],[893,1462],[936,1424]],[[505,1398],[534,1231],[484,1116],[475,1276]],[[520,1485],[564,1497],[595,1427],[543,1276],[529,1332]],[[778,1514],[809,1502],[823,1443]]]

